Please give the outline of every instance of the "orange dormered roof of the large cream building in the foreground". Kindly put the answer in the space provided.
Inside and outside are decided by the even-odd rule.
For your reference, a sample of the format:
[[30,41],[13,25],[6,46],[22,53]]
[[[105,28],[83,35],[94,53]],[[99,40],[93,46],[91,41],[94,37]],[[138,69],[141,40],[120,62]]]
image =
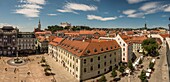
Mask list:
[[115,40],[103,42],[64,40],[59,46],[77,56],[97,55],[106,51],[120,49],[120,46]]

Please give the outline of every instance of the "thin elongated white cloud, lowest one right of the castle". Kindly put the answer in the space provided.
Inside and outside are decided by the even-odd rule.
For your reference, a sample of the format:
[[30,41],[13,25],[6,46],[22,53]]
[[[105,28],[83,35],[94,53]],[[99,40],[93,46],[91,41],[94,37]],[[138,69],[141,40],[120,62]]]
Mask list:
[[109,21],[109,20],[116,20],[117,17],[101,17],[96,15],[87,15],[87,19],[89,20],[100,20],[100,21]]

